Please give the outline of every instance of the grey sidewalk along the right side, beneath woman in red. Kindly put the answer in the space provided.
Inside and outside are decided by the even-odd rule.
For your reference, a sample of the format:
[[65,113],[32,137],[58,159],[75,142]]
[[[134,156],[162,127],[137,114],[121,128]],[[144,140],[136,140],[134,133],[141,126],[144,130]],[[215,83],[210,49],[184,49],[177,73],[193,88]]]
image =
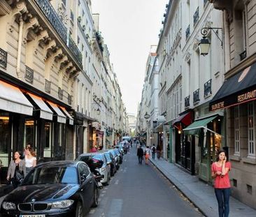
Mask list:
[[[199,181],[198,177],[184,172],[178,166],[162,158],[159,160],[150,158],[150,161],[174,184],[174,186],[176,186],[176,188],[188,197],[204,215],[208,217],[218,216],[218,203],[212,186],[205,184],[203,181]],[[239,200],[234,199],[234,197],[230,197],[229,209],[230,217],[256,216],[255,209],[239,202]]]

